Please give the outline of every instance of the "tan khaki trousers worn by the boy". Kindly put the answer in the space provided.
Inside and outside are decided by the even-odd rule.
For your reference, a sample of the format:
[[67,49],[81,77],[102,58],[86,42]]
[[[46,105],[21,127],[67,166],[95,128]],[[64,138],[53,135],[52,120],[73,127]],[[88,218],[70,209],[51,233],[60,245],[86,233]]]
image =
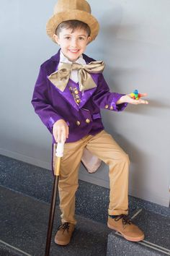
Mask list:
[[79,187],[79,166],[85,147],[109,166],[108,214],[128,214],[129,158],[112,136],[103,130],[97,135],[87,135],[79,141],[68,142],[64,145],[58,183],[62,223],[76,224],[75,193]]

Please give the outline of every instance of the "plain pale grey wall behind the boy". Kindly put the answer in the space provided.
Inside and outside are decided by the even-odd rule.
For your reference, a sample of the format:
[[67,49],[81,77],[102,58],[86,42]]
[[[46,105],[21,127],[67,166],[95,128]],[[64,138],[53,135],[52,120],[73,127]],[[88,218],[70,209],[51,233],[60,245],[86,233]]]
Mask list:
[[[169,205],[170,1],[89,1],[101,30],[86,54],[107,64],[112,91],[147,92],[149,106],[102,111],[104,125],[130,155],[130,195]],[[51,137],[31,106],[40,64],[58,51],[45,34],[55,0],[1,0],[0,153],[50,169]],[[109,187],[104,164],[80,179]]]

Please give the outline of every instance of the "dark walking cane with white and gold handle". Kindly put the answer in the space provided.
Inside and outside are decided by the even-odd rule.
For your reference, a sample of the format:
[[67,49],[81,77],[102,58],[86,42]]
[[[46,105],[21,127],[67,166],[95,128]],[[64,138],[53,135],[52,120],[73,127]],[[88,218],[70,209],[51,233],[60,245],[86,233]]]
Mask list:
[[45,256],[48,256],[50,252],[50,242],[51,242],[51,236],[53,231],[53,221],[54,221],[55,205],[56,205],[56,198],[57,198],[57,191],[58,191],[58,179],[60,175],[61,158],[63,156],[63,145],[64,145],[64,142],[58,142],[56,153],[55,153],[55,155],[57,156],[57,159],[55,161],[53,194],[52,194],[51,203],[50,203],[50,215],[49,215],[49,221],[48,221],[48,233],[47,233],[46,246],[45,246]]

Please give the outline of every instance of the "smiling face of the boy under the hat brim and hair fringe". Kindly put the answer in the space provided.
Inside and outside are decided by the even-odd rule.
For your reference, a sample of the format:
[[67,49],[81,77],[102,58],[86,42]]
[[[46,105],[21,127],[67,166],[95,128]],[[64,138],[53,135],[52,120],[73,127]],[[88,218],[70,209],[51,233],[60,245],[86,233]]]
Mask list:
[[61,46],[61,51],[70,60],[76,61],[86,50],[86,45],[91,39],[84,29],[63,28],[59,35],[53,35],[56,43]]

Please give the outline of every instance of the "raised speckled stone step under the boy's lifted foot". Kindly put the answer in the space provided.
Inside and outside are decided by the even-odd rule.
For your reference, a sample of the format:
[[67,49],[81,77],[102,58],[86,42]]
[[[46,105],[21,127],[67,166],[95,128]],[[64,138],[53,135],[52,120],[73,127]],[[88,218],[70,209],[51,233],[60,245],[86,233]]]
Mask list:
[[128,242],[117,232],[108,236],[107,256],[170,255],[170,217],[139,210],[133,218],[145,232],[142,242]]

